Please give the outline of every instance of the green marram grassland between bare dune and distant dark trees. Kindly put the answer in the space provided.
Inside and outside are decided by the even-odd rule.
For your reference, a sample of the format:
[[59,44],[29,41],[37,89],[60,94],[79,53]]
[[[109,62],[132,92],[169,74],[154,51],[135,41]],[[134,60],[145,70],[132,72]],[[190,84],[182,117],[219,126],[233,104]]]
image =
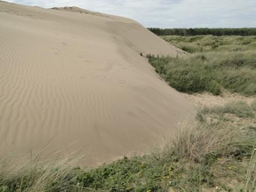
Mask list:
[[[185,93],[222,88],[244,95],[256,93],[256,37],[164,36],[167,42],[192,54],[147,58],[174,89]],[[186,44],[186,45],[185,45]]]

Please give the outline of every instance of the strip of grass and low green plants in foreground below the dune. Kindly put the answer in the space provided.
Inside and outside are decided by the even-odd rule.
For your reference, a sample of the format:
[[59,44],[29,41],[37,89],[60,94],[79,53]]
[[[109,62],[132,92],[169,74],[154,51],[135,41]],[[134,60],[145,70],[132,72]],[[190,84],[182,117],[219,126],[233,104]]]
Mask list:
[[204,107],[152,153],[92,169],[2,159],[0,191],[255,191],[255,115],[256,101]]

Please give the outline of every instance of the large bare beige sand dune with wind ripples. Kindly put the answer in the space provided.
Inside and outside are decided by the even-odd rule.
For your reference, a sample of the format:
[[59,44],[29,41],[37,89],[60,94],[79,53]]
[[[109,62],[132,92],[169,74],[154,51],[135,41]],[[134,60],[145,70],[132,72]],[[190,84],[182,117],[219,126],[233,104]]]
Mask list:
[[95,164],[147,151],[193,105],[139,54],[183,52],[139,23],[0,2],[0,151],[86,151]]

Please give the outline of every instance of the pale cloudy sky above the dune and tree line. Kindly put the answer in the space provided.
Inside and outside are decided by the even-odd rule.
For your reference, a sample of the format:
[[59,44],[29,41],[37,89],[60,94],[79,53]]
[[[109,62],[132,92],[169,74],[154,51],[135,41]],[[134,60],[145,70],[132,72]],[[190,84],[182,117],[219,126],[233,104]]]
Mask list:
[[129,17],[145,27],[256,27],[256,0],[7,0],[13,3],[78,6]]

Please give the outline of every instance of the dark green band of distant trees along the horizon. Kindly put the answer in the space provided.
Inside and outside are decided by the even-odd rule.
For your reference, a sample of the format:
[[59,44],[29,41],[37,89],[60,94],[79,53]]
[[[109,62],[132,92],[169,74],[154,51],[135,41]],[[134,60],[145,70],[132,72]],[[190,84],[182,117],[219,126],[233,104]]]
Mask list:
[[151,32],[158,36],[162,35],[180,35],[180,36],[195,36],[195,35],[241,35],[250,36],[256,35],[256,28],[148,28]]

